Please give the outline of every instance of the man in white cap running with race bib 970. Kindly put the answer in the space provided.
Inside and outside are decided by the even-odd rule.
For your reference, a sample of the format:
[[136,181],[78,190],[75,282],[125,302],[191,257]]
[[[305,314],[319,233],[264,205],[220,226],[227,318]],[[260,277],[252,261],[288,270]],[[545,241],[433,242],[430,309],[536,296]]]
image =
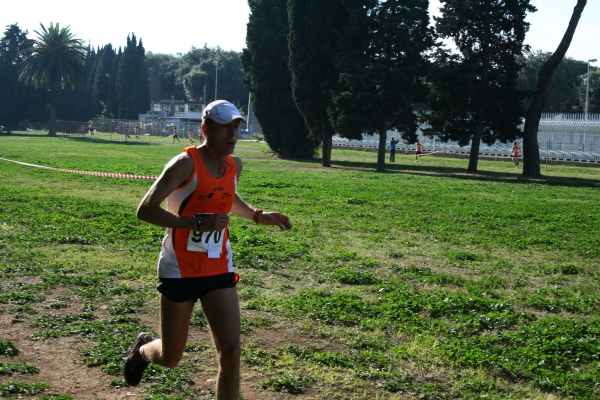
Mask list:
[[[217,349],[216,398],[239,398],[240,309],[229,213],[291,229],[287,216],[254,208],[237,193],[243,164],[232,154],[242,122],[246,123],[233,104],[210,103],[203,112],[206,142],[171,159],[138,207],[139,219],[166,227],[166,233],[158,260],[161,338],[145,332],[136,337],[123,368],[131,386],[138,385],[150,363],[177,366],[200,300]],[[166,208],[161,207],[164,200]]]

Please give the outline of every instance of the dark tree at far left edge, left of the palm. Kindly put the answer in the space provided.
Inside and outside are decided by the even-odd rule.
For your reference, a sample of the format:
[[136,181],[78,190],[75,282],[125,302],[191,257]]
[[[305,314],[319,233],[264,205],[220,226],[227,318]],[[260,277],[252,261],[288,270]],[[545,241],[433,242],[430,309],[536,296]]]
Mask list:
[[47,118],[45,93],[18,82],[19,69],[29,56],[23,50],[33,46],[27,33],[17,24],[8,25],[0,39],[0,122],[8,133],[24,120]]

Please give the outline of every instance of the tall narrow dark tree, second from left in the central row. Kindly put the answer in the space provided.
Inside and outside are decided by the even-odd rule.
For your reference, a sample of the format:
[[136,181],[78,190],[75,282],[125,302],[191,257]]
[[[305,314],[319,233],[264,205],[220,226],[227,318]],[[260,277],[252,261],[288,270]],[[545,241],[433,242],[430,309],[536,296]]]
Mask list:
[[338,37],[347,17],[341,0],[288,0],[292,94],[311,135],[322,142],[324,167],[331,166],[335,130],[328,111],[339,76],[335,68]]

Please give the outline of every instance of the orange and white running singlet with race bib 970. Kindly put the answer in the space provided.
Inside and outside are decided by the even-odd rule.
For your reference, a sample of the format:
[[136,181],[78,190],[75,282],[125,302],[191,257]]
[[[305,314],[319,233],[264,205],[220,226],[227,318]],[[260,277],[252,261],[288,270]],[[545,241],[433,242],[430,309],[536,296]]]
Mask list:
[[[184,149],[194,160],[190,179],[167,197],[167,210],[184,216],[228,214],[237,189],[237,168],[227,156],[225,174],[214,178],[195,146]],[[228,228],[198,232],[167,228],[158,259],[161,278],[198,278],[233,272]]]

